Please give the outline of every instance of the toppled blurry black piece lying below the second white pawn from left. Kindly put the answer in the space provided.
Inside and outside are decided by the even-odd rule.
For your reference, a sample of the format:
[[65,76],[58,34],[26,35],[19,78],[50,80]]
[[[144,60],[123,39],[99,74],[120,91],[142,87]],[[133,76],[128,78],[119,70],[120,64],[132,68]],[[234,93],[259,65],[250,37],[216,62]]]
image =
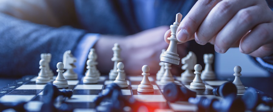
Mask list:
[[59,95],[70,98],[72,94],[73,93],[71,90],[60,91],[56,86],[54,86],[51,83],[48,83],[44,88],[43,102],[44,103],[54,102],[55,98],[58,97]]

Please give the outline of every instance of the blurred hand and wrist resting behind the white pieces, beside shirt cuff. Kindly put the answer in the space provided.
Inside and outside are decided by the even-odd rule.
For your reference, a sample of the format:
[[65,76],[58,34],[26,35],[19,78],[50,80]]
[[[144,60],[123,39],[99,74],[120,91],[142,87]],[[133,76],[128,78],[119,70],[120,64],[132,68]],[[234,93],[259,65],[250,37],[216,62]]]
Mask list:
[[[170,27],[160,26],[153,29],[148,29],[134,35],[126,37],[107,36],[102,35],[99,41],[94,46],[96,53],[98,54],[98,69],[101,73],[110,72],[113,69],[113,57],[112,47],[114,43],[119,43],[121,50],[121,58],[124,63],[124,70],[126,74],[137,74],[142,73],[142,66],[148,65],[150,67],[150,74],[154,75],[160,69],[160,54],[162,49],[167,49],[169,46],[164,42],[163,36]],[[185,45],[180,44],[177,53],[180,56],[185,56]],[[185,48],[185,49],[183,49]],[[180,74],[181,65],[173,66],[172,73]]]

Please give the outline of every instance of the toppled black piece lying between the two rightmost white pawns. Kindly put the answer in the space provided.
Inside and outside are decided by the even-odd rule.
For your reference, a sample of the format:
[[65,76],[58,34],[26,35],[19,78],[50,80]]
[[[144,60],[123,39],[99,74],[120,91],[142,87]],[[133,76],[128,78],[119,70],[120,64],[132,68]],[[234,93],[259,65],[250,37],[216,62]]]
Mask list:
[[212,92],[215,96],[220,97],[226,97],[229,94],[233,94],[236,96],[237,88],[233,83],[227,82],[217,88],[214,88]]

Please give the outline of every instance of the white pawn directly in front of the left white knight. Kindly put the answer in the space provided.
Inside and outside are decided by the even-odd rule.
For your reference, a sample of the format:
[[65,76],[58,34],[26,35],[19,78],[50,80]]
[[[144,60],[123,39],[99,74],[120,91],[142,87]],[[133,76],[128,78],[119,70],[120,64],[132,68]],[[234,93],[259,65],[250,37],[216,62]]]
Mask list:
[[68,83],[67,83],[67,80],[64,78],[63,76],[63,63],[62,62],[59,62],[57,63],[57,72],[58,72],[58,75],[56,77],[56,79],[53,81],[53,85],[55,85],[57,88],[66,88],[68,87]]

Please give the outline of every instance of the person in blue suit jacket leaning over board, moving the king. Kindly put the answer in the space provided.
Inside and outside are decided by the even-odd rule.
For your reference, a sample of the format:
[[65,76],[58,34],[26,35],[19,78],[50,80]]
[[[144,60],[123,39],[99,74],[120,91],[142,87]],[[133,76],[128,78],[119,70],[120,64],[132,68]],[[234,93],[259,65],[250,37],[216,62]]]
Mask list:
[[[168,47],[169,25],[177,12],[185,15],[176,34],[184,43],[177,46],[180,57],[193,51],[201,58],[197,63],[204,65],[203,54],[214,53],[213,46],[206,44],[210,42],[216,52],[240,47],[242,53],[257,57],[257,63],[270,65],[270,6],[270,0],[1,0],[0,75],[37,74],[41,53],[52,54],[53,67],[67,50],[77,58],[75,72],[84,74],[90,48],[98,54],[99,71],[108,74],[113,68],[111,48],[116,42],[122,48],[127,74],[141,74],[135,68],[141,68],[143,62],[150,67],[150,74],[156,74],[158,57],[161,49]],[[206,45],[189,41],[193,39]],[[174,67],[181,70],[181,65]],[[271,67],[265,68],[272,72]]]

